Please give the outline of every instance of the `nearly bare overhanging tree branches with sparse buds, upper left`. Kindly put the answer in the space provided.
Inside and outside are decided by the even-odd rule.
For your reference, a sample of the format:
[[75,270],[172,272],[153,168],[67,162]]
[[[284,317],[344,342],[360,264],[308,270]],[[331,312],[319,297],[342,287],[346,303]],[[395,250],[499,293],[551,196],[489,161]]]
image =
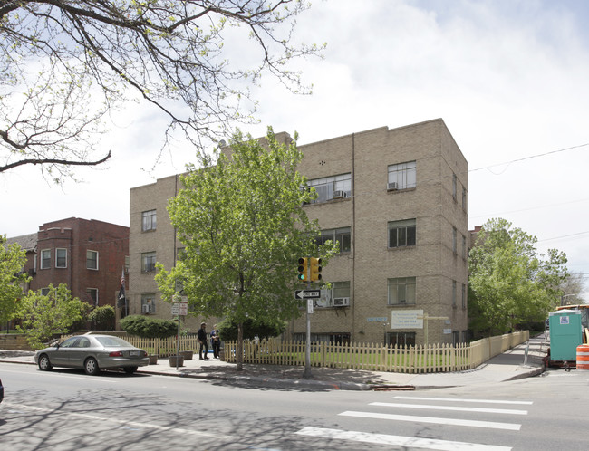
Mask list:
[[99,165],[105,117],[159,110],[198,149],[256,111],[262,74],[309,92],[292,60],[303,0],[0,1],[0,172],[37,165],[54,181]]

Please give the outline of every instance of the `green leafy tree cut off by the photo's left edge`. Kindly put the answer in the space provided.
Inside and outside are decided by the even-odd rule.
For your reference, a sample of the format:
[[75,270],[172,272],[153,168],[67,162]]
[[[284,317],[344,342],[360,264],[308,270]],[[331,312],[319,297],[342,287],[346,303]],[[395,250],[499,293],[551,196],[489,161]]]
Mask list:
[[22,284],[31,278],[23,273],[26,252],[20,245],[7,245],[0,235],[0,324],[14,319],[18,300],[23,296]]

